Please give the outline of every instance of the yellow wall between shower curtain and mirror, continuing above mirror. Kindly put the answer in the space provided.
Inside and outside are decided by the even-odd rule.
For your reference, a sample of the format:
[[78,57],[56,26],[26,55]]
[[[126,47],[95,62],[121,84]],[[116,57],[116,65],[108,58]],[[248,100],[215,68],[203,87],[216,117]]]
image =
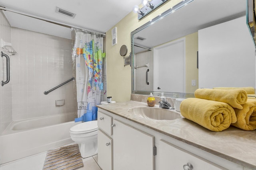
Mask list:
[[[130,100],[132,92],[131,67],[124,67],[124,58],[120,55],[119,50],[122,45],[128,48],[128,56],[131,52],[131,32],[143,25],[144,23],[162,14],[172,6],[178,4],[182,0],[170,0],[157,10],[143,18],[137,19],[137,14],[130,12],[126,17],[119,21],[114,27],[117,32],[117,44],[112,46],[112,27],[106,33],[106,60],[107,60],[107,95],[112,96],[112,100],[116,102],[124,102]],[[134,4],[138,5],[138,4]],[[132,9],[131,9],[132,11]]]

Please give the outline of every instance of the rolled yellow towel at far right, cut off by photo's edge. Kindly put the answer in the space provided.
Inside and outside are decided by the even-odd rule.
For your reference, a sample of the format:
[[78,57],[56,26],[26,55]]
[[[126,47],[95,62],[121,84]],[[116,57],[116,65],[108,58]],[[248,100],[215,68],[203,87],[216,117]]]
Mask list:
[[256,100],[248,99],[242,106],[242,110],[234,109],[237,122],[231,125],[246,131],[253,131],[256,129]]

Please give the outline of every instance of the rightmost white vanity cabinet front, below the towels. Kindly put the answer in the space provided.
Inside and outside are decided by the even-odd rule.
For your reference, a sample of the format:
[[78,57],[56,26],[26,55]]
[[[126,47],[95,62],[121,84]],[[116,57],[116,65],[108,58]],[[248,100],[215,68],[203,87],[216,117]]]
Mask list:
[[188,163],[194,170],[227,170],[164,140],[160,140],[158,148],[160,170],[188,170],[188,166],[183,168]]

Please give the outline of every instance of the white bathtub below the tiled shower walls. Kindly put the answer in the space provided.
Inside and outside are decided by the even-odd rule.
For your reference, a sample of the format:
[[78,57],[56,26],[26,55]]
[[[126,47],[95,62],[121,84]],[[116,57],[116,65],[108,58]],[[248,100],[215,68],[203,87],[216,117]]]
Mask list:
[[0,136],[0,164],[73,143],[70,127],[76,114],[13,121]]

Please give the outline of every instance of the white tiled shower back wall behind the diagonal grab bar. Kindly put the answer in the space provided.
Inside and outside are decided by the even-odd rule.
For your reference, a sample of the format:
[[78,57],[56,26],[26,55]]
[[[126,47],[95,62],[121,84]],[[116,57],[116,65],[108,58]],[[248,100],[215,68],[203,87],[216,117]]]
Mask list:
[[[12,120],[76,112],[75,81],[44,95],[70,79],[72,41],[12,27]],[[55,106],[55,100],[65,100]]]

